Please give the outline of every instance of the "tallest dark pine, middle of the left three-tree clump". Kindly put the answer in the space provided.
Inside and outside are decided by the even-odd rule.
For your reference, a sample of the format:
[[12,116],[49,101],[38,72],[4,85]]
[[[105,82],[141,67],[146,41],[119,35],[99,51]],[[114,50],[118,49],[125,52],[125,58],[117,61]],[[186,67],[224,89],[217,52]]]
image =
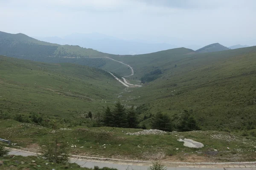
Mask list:
[[127,127],[125,106],[117,102],[113,111],[113,122],[115,127]]

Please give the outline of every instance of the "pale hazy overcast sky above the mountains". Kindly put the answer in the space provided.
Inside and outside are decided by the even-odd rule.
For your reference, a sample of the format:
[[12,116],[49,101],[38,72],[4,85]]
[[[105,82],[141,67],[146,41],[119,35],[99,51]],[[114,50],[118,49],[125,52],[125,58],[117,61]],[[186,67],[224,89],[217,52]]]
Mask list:
[[0,0],[0,31],[256,45],[256,0]]

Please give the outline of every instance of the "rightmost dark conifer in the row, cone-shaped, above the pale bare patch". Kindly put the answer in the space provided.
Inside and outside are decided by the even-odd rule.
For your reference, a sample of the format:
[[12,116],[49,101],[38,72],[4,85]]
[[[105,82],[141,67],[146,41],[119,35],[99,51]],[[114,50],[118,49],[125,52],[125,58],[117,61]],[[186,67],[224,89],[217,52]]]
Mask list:
[[180,131],[200,130],[200,127],[198,126],[198,123],[193,115],[193,110],[184,110],[178,129]]

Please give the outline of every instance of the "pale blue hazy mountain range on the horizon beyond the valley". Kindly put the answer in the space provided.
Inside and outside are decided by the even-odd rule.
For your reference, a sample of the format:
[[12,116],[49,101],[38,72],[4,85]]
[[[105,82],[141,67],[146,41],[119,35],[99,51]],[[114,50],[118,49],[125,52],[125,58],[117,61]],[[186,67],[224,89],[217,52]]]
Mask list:
[[92,48],[109,54],[134,55],[177,48],[177,45],[168,43],[143,43],[131,40],[122,40],[104,34],[70,34],[65,37],[34,37],[38,40],[61,45],[79,45]]

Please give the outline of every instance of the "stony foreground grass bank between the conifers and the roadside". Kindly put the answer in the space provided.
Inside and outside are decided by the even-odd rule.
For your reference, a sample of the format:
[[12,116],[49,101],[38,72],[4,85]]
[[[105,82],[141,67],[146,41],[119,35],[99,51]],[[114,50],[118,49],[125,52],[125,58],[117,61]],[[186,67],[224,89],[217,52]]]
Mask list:
[[[28,147],[30,150],[40,149],[49,136],[49,129],[45,127],[14,120],[1,120],[0,123],[2,138],[12,140],[17,146]],[[68,142],[71,153],[76,155],[152,161],[159,159],[179,161],[182,157],[185,161],[189,161],[189,156],[195,155],[201,161],[252,161],[256,156],[253,142],[255,137],[227,132],[192,131],[131,136],[125,133],[141,129],[84,126],[70,129],[65,130],[66,137],[63,140]],[[179,138],[202,142],[204,147],[199,149],[184,147],[183,142],[177,141]],[[76,145],[76,148],[71,147],[72,145]],[[212,155],[213,149],[218,150],[216,155]],[[187,157],[183,156],[184,153]]]

